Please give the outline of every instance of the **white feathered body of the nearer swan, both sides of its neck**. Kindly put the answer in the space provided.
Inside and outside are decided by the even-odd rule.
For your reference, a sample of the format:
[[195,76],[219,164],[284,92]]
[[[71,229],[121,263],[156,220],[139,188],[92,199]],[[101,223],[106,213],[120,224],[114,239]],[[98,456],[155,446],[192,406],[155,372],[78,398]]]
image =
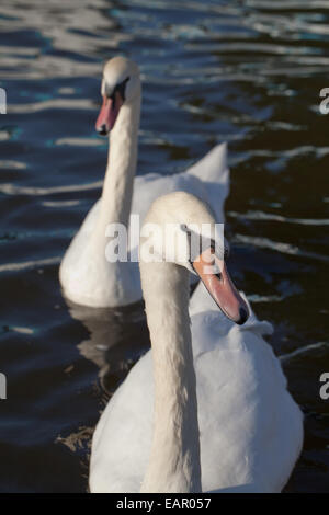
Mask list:
[[[212,312],[191,321],[203,491],[280,492],[302,448],[303,417],[280,362],[260,335],[261,322],[254,317],[248,329],[229,321],[222,328]],[[152,402],[149,351],[97,426],[92,491],[139,492],[150,453]]]

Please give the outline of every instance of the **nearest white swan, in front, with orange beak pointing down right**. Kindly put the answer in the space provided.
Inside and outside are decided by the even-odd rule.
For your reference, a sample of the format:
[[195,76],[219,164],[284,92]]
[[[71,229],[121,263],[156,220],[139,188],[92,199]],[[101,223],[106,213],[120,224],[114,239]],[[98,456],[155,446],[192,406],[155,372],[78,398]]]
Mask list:
[[[189,229],[214,218],[204,203],[177,192],[158,198],[146,222]],[[157,245],[164,256],[173,242]],[[141,260],[151,351],[98,423],[91,492],[280,492],[286,483],[302,447],[302,413],[262,339],[271,325],[250,308],[243,325],[231,321],[246,321],[248,308],[216,259],[220,278],[205,275],[202,260],[193,263],[207,290],[198,284],[191,318],[189,261]]]

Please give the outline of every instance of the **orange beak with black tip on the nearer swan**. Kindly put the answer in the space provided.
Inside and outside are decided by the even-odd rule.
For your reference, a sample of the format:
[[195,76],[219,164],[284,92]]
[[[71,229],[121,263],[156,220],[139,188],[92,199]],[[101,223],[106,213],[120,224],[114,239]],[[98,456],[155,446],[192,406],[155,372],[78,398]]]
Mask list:
[[235,287],[225,261],[208,248],[193,262],[193,268],[224,314],[242,325],[249,318],[249,309]]

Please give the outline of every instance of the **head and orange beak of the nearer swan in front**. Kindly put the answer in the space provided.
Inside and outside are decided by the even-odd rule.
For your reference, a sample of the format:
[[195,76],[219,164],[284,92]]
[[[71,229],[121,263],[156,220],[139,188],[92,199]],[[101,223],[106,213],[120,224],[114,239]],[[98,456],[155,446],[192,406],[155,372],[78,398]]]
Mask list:
[[154,202],[139,252],[141,263],[171,262],[196,274],[224,314],[240,325],[247,321],[248,306],[226,265],[223,224],[216,224],[211,207],[194,195],[174,192]]

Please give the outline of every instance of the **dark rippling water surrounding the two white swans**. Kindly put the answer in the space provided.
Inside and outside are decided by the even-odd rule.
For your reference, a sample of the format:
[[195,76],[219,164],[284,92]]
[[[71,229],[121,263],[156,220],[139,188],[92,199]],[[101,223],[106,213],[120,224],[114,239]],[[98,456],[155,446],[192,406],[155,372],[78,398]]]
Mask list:
[[283,362],[306,428],[286,490],[328,490],[328,21],[320,0],[1,0],[0,491],[86,491],[105,390],[148,346],[140,306],[68,307],[57,279],[101,192],[93,124],[118,53],[143,71],[138,173],[184,170],[229,141],[230,267],[275,352],[303,351]]

